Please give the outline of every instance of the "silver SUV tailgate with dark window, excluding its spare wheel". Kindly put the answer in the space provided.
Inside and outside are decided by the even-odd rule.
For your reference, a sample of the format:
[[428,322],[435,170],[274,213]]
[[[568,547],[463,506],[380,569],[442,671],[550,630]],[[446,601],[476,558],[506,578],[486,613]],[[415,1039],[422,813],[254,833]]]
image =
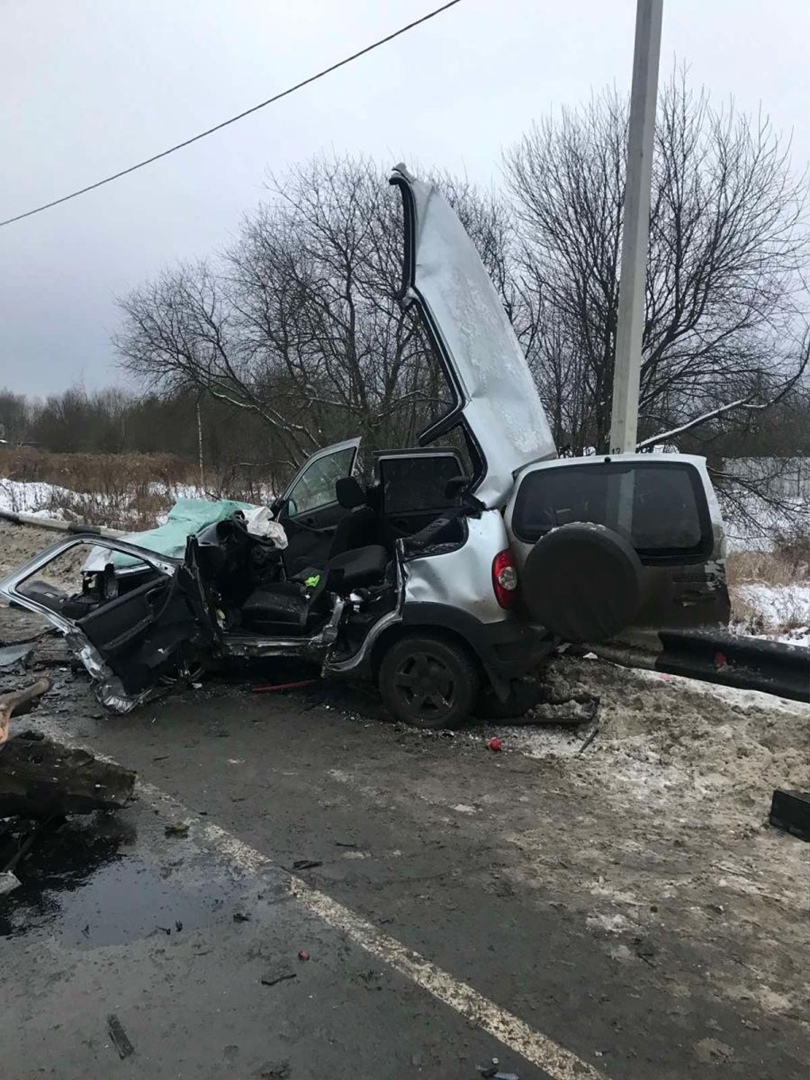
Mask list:
[[[634,454],[539,462],[516,477],[505,521],[518,571],[561,526],[591,523],[623,538],[642,565],[633,627],[728,623],[723,521],[702,458]],[[584,577],[588,568],[580,571]]]

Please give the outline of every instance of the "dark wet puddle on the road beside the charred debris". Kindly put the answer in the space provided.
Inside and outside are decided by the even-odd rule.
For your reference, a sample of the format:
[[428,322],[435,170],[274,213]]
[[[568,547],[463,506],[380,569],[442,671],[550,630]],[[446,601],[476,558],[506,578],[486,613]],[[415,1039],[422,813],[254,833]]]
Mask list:
[[0,899],[0,937],[45,933],[66,948],[96,948],[231,921],[243,885],[211,866],[193,873],[179,849],[148,862],[134,839],[113,818],[45,832],[16,870],[22,886]]

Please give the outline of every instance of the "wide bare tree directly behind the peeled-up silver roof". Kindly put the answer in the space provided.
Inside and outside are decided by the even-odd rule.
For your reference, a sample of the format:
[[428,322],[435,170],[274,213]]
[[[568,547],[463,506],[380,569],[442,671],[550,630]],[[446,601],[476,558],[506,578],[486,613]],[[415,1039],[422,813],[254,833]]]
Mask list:
[[[276,456],[360,433],[410,443],[448,393],[399,300],[402,218],[386,171],[319,158],[269,183],[235,243],[120,301],[124,366],[154,390],[203,390],[267,424]],[[508,217],[494,192],[440,177],[505,298]]]

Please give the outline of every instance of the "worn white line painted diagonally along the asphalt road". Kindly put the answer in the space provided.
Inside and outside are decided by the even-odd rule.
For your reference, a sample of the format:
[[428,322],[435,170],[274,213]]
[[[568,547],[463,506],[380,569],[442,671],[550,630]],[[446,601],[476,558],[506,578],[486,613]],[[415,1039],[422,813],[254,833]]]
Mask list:
[[[44,721],[38,726],[46,729],[49,734],[66,745],[86,748],[58,725]],[[99,760],[120,764],[105,754],[95,751],[93,753]],[[189,810],[179,799],[156,787],[154,784],[138,780],[135,789],[140,798],[159,813],[165,814],[173,821],[187,822],[191,828],[191,836],[198,843],[213,849],[241,870],[259,874],[268,869],[282,869],[267,855],[262,855],[260,851],[238,839],[220,825],[215,825],[193,810]],[[327,926],[340,931],[366,953],[427,990],[437,1001],[449,1005],[475,1027],[494,1036],[527,1062],[544,1069],[552,1080],[608,1080],[604,1072],[594,1068],[589,1062],[561,1047],[549,1036],[536,1031],[525,1021],[485,998],[472,986],[443,971],[427,957],[403,945],[395,937],[382,933],[362,915],[345,907],[326,893],[311,888],[294,874],[286,873],[286,877],[291,895],[302,907],[316,915]]]

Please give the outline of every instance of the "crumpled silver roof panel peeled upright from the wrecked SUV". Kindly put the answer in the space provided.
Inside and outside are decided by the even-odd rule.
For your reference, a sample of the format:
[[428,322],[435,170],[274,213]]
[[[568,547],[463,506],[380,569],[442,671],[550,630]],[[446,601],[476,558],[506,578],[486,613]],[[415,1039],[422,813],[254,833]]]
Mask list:
[[420,442],[463,417],[484,459],[475,494],[487,507],[502,505],[517,469],[556,457],[535,380],[456,212],[404,165],[394,168],[391,183],[402,191],[405,212],[403,301],[419,307],[456,394],[451,414]]

